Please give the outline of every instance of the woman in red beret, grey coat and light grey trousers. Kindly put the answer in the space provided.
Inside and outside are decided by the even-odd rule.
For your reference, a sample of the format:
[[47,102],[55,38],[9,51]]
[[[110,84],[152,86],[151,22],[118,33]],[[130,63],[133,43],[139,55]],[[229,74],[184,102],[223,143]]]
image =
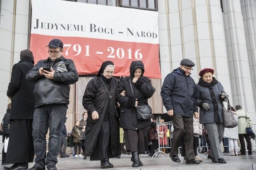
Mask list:
[[222,101],[228,100],[228,95],[220,82],[213,77],[214,70],[202,69],[199,72],[197,87],[197,106],[200,107],[200,123],[204,124],[211,143],[208,158],[214,163],[226,163],[221,151],[224,135]]

